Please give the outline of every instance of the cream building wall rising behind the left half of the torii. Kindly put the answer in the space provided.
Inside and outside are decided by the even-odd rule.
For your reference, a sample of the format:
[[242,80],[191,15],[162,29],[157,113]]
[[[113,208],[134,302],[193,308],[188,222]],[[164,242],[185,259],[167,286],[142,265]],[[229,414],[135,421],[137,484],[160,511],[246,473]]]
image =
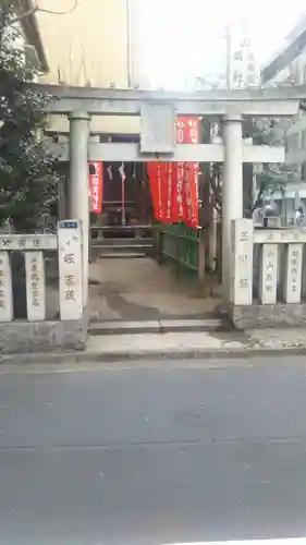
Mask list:
[[[138,0],[78,0],[76,9],[72,10],[74,0],[39,0],[41,10],[61,13],[72,10],[66,14],[44,11],[37,13],[50,66],[50,72],[41,76],[40,82],[126,88],[128,75],[137,75],[135,62],[133,69],[131,66],[130,55],[134,52],[135,56],[136,43],[139,41],[137,5],[134,5],[136,1]],[[128,45],[128,35],[132,33],[133,47]],[[95,118],[91,124],[95,131],[139,131],[139,123],[135,118]],[[68,130],[66,119],[52,118],[50,129]]]

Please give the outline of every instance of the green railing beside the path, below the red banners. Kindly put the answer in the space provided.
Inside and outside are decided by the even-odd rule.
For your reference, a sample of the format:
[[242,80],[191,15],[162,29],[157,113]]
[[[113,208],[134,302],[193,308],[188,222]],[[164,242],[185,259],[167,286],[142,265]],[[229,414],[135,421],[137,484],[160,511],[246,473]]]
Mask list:
[[184,223],[159,223],[159,254],[176,264],[179,271],[193,271],[203,277],[205,258],[201,229],[192,229]]

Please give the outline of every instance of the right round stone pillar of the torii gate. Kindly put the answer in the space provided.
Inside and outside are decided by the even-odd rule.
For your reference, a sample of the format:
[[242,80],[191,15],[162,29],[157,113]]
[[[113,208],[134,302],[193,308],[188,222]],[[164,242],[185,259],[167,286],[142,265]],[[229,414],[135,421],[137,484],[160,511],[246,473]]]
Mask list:
[[243,218],[243,140],[242,119],[223,119],[224,165],[222,180],[222,284],[230,284],[231,222]]

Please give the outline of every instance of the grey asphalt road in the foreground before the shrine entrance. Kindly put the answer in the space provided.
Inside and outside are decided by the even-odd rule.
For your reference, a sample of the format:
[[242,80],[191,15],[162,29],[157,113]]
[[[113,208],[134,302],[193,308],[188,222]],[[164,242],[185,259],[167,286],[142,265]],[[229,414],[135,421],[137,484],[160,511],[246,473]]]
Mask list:
[[0,367],[0,544],[306,535],[306,359],[247,363]]

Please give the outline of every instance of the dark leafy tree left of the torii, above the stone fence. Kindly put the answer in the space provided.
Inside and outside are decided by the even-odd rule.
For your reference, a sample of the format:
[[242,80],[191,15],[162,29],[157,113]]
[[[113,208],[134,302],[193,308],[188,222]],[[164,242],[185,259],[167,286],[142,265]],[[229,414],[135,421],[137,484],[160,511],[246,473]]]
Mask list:
[[26,64],[20,32],[11,24],[12,2],[0,5],[0,223],[33,230],[57,199],[57,162],[39,138],[44,107],[51,99],[27,85],[36,75]]

